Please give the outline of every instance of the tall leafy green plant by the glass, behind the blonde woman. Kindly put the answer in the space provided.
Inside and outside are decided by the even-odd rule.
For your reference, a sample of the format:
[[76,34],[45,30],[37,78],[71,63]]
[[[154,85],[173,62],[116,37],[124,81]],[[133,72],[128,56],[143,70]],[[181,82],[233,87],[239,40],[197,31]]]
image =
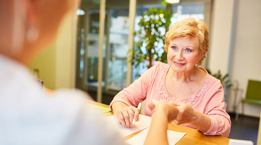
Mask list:
[[166,62],[167,53],[164,51],[165,33],[160,28],[168,29],[171,13],[164,9],[150,8],[139,22],[140,30],[134,35],[140,37],[140,41],[134,42],[132,64],[137,67],[141,62],[149,61],[148,68],[152,67],[152,61]]

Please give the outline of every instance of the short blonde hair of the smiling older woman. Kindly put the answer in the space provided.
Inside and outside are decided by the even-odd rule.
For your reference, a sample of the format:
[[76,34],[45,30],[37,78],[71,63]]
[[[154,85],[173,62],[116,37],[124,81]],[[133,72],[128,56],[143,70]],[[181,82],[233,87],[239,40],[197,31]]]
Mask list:
[[[207,24],[202,19],[196,21],[195,18],[187,18],[174,23],[165,35],[164,50],[167,53],[170,40],[179,36],[186,38],[196,37],[198,39],[198,49],[200,56],[209,49],[209,29],[207,28]],[[197,63],[197,66],[201,65],[202,61],[206,57],[207,56],[205,54]]]

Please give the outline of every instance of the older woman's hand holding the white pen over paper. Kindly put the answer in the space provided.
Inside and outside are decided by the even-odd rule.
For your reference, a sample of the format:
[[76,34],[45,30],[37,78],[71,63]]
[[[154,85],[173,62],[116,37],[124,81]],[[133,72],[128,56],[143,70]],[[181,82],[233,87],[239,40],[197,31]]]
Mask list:
[[112,111],[116,122],[125,127],[132,125],[133,118],[139,121],[140,110],[134,106],[127,106],[125,103],[117,101],[112,104]]

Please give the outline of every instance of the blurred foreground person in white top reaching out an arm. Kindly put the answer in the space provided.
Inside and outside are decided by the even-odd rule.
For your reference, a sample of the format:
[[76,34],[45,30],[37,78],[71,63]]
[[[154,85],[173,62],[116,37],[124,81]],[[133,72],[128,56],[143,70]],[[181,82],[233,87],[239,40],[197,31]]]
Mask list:
[[[124,144],[116,130],[88,108],[82,99],[87,94],[42,92],[26,67],[56,37],[59,23],[76,9],[76,2],[0,3],[0,144]],[[178,112],[177,107],[160,102],[156,107],[151,104],[151,110],[155,112],[154,125],[145,144],[168,144],[167,123],[176,118],[177,113],[172,112]],[[154,136],[158,137],[152,139]]]

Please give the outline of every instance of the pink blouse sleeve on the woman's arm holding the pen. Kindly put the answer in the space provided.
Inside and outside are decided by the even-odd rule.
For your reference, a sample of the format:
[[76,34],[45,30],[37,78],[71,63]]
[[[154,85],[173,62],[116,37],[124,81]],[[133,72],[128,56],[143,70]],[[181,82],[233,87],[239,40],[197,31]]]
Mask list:
[[138,106],[139,102],[145,100],[148,88],[159,70],[159,65],[160,63],[157,62],[156,65],[141,74],[141,76],[131,85],[124,88],[116,96],[114,96],[110,103],[110,110],[112,111],[111,105],[116,101],[121,101],[128,106]]

